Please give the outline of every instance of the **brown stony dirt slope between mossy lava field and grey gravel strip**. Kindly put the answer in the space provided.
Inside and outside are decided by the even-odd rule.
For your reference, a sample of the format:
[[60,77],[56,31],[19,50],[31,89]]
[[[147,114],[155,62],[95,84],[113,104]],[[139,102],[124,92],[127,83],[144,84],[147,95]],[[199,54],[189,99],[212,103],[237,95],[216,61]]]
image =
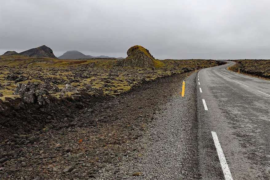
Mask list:
[[0,177],[89,179],[104,177],[104,171],[113,179],[122,179],[126,173],[132,176],[132,172],[122,172],[122,157],[129,161],[140,157],[144,147],[134,146],[135,142],[145,133],[145,126],[156,111],[172,95],[178,95],[187,75],[145,82],[127,94],[105,101],[89,99],[87,109],[76,114],[72,114],[77,110],[75,104],[65,102],[56,111],[58,116],[51,115],[52,122],[43,130],[2,134]]

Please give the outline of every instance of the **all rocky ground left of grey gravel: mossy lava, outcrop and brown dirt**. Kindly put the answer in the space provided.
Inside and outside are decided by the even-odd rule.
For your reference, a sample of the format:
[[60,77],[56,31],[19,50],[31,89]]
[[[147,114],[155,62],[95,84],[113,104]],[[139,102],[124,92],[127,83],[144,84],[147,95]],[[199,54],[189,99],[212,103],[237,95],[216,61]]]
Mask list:
[[136,46],[124,60],[1,56],[0,179],[140,175],[125,164],[142,156],[148,123],[190,71],[218,64],[159,61]]

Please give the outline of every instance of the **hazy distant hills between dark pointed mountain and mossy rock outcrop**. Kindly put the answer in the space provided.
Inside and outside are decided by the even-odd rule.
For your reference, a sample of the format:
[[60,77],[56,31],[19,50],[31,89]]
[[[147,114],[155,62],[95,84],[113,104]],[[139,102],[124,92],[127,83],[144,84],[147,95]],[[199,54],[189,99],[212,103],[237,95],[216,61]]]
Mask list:
[[124,59],[122,57],[120,58],[115,58],[115,57],[109,57],[109,56],[91,56],[91,55],[85,55],[82,54],[80,51],[77,50],[71,50],[65,52],[62,56],[58,57],[59,59],[91,59],[91,58],[114,58],[114,59]]

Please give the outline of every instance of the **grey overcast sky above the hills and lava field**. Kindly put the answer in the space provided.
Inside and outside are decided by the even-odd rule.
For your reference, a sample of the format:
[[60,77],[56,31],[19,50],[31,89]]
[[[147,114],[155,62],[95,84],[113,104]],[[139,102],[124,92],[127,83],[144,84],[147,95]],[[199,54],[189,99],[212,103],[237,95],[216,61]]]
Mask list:
[[270,59],[269,0],[0,0],[0,54],[46,45],[126,57]]

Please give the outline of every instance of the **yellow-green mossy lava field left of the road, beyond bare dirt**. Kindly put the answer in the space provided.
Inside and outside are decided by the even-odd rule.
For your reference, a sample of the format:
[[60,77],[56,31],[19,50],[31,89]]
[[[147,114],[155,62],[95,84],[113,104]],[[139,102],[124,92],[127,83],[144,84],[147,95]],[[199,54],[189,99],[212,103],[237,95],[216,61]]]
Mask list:
[[[143,48],[138,46],[138,48]],[[142,49],[149,54],[145,48]],[[150,58],[153,58],[149,54]],[[104,95],[115,96],[131,90],[144,81],[153,81],[164,76],[180,74],[204,67],[216,66],[213,60],[153,60],[156,70],[144,68],[120,68],[114,66],[116,59],[56,60],[51,58],[27,58],[18,55],[1,56],[0,83],[9,82],[5,90],[0,90],[4,97],[12,96],[17,83],[6,79],[8,75],[23,75],[27,80],[18,83],[49,83],[61,90],[66,83],[76,87],[78,93],[91,85],[103,91]],[[94,63],[94,67],[90,66]],[[184,69],[183,69],[184,68]],[[90,95],[95,92],[87,91]],[[60,93],[53,94],[60,98]],[[66,93],[73,96],[76,93]],[[4,99],[3,97],[1,99]]]

